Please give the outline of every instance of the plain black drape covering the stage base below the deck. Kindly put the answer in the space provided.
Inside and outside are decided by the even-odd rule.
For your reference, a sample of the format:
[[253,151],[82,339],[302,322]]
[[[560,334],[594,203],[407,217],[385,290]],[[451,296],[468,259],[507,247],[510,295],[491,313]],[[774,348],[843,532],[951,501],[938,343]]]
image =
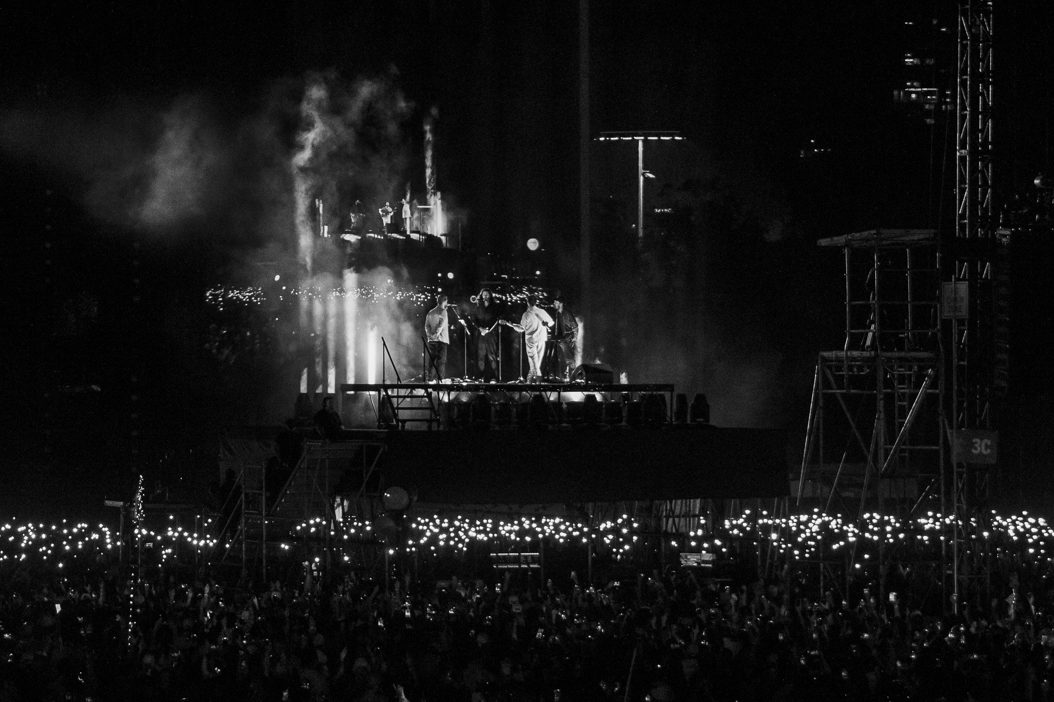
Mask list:
[[774,498],[788,495],[785,446],[715,426],[392,432],[384,474],[447,504]]

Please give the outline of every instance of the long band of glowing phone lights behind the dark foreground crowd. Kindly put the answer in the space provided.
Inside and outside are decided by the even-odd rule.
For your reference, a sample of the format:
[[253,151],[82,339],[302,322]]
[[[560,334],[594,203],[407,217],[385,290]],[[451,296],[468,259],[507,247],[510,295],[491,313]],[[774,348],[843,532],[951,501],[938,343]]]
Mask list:
[[[388,520],[387,522],[382,520]],[[173,556],[181,544],[197,550],[227,548],[232,544],[214,536],[190,531],[173,525],[163,529],[149,529],[136,525],[133,535],[140,544],[157,546],[161,561]],[[212,520],[201,520],[202,530],[208,530]],[[770,554],[792,561],[807,562],[822,559],[850,559],[860,568],[874,562],[880,547],[902,547],[917,556],[939,553],[941,542],[950,534],[951,517],[928,513],[924,517],[900,520],[878,514],[850,519],[840,515],[811,514],[789,517],[769,516],[767,512],[750,510],[735,519],[724,520],[715,533],[690,530],[686,535],[665,536],[669,545],[684,551],[727,553],[733,543],[746,542],[767,549]],[[999,557],[1018,557],[1036,564],[1054,564],[1054,528],[1045,519],[1020,515],[1001,516],[992,513],[987,524],[972,520],[967,526],[968,553],[985,546]],[[617,558],[639,547],[645,537],[640,523],[623,515],[597,525],[570,521],[560,517],[521,517],[518,519],[490,519],[469,517],[416,517],[408,519],[406,529],[399,530],[390,518],[375,522],[346,518],[330,522],[321,518],[307,520],[294,528],[296,537],[318,540],[329,533],[337,548],[341,542],[378,541],[386,539],[391,553],[403,550],[419,555],[442,555],[468,550],[472,543],[488,543],[515,547],[531,546],[546,540],[552,545],[592,544],[597,553],[607,553]],[[653,536],[653,535],[648,535]],[[63,568],[74,559],[94,562],[112,551],[118,536],[103,524],[86,523],[44,525],[25,523],[0,525],[0,565],[35,561]],[[295,542],[282,543],[289,550]],[[932,554],[931,554],[932,555]],[[850,562],[846,561],[846,562]]]

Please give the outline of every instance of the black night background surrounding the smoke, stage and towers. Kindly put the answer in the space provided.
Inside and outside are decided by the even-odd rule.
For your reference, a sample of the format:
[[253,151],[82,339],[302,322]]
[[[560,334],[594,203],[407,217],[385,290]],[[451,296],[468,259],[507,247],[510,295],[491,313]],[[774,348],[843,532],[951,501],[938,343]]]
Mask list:
[[[591,5],[591,133],[687,141],[646,149],[646,213],[676,214],[646,217],[640,256],[636,145],[593,142],[588,353],[633,380],[706,392],[718,423],[800,441],[815,355],[842,345],[841,260],[816,240],[954,226],[954,105],[925,112],[893,93],[920,78],[952,88],[955,4]],[[997,13],[1009,201],[1051,172],[1054,8]],[[440,189],[475,253],[522,260],[538,237],[548,282],[577,292],[577,3],[23,3],[0,33],[5,514],[96,514],[137,472],[200,492],[217,432],[273,420],[254,408],[268,379],[206,350],[203,290],[252,282],[246,262],[285,245],[246,215],[260,196],[239,174],[270,166],[240,140],[267,125],[292,148],[282,105],[308,75],[405,99],[398,167],[416,192],[421,122],[436,106]],[[911,76],[905,53],[933,65]],[[150,188],[167,120],[188,113],[208,126],[188,142],[208,166],[196,173],[222,177],[195,183],[203,195],[174,223],[119,215]],[[201,156],[212,145],[235,157],[214,168]],[[1002,415],[1015,427],[1008,495],[1039,504],[1054,485],[1049,275],[1035,265],[1014,280]]]

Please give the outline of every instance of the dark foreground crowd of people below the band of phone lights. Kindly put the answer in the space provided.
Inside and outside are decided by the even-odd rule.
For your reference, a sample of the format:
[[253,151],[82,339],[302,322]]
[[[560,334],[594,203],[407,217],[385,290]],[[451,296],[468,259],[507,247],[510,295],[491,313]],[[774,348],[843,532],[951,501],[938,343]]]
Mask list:
[[703,576],[8,579],[0,700],[1054,699],[1046,574],[954,616],[863,580],[805,597],[787,574]]

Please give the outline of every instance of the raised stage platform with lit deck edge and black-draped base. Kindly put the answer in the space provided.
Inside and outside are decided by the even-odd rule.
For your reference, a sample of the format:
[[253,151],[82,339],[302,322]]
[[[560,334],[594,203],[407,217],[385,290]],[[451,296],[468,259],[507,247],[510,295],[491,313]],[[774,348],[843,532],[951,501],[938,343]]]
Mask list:
[[379,442],[384,484],[423,502],[787,495],[781,432],[713,426],[708,407],[699,421],[668,383],[380,382],[339,389],[346,399],[370,396],[377,428],[341,432],[327,443]]

